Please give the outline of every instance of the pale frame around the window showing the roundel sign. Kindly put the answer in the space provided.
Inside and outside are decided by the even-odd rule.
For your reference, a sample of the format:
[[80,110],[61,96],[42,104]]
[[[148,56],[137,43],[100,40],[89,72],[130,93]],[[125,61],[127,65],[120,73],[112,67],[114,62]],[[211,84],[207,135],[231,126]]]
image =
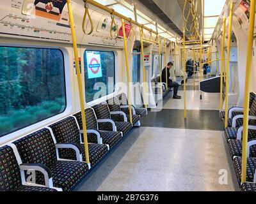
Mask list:
[[[81,50],[82,51],[82,50]],[[92,100],[92,101],[86,101],[86,90],[85,90],[85,72],[84,72],[84,66],[85,66],[85,64],[84,64],[84,55],[85,55],[85,52],[86,51],[94,51],[94,52],[112,52],[113,53],[113,55],[114,55],[114,89],[113,89],[113,92],[111,92],[111,93],[109,93],[109,94],[106,94],[106,96],[102,96],[102,97],[100,97],[100,98],[98,98],[98,99],[95,99],[95,100]],[[110,49],[108,49],[108,48],[102,48],[102,47],[97,47],[97,48],[95,48],[95,47],[88,47],[88,48],[84,48],[83,49],[83,55],[81,55],[81,59],[83,59],[83,60],[81,60],[81,69],[82,69],[82,71],[81,71],[81,73],[82,73],[82,75],[83,75],[83,92],[84,92],[84,103],[85,104],[87,104],[88,106],[92,106],[92,105],[94,105],[95,103],[98,103],[99,101],[103,101],[104,99],[107,99],[109,96],[111,96],[111,95],[113,95],[113,94],[115,94],[115,92],[116,92],[116,78],[118,78],[118,73],[117,73],[117,71],[116,71],[116,64],[117,64],[117,57],[118,57],[118,55],[117,55],[117,53],[116,53],[116,50],[110,50]],[[83,57],[83,58],[82,58]],[[82,64],[83,63],[83,64]]]

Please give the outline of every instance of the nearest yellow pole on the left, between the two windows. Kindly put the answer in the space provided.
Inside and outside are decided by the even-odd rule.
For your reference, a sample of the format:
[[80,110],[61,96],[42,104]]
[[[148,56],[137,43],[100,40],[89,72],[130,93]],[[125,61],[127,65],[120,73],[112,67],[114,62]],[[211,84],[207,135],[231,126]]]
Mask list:
[[83,123],[85,161],[90,166],[87,130],[86,130],[86,118],[85,118],[85,112],[84,112],[84,96],[83,96],[82,78],[81,78],[81,73],[79,68],[79,59],[78,59],[77,42],[76,42],[76,30],[75,30],[75,24],[74,24],[74,18],[73,18],[73,12],[72,12],[72,6],[70,3],[70,0],[67,0],[67,6],[68,6],[69,21],[70,21],[70,29],[72,34],[74,55],[75,55],[75,61],[76,61],[77,82],[78,82],[79,99],[80,99],[82,123]]

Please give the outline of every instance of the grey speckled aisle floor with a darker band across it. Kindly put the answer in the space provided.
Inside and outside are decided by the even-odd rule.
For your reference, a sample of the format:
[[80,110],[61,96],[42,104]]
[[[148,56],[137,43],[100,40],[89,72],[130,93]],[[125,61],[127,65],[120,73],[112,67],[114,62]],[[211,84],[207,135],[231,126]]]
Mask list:
[[193,99],[196,108],[184,120],[173,99],[164,100],[166,108],[148,112],[76,191],[240,190],[212,101],[209,110],[200,110],[200,99]]

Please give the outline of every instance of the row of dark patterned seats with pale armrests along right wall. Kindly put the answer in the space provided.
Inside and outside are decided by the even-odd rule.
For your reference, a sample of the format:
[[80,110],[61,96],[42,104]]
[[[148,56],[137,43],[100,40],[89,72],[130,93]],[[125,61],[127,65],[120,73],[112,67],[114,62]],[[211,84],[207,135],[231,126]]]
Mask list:
[[234,106],[228,110],[228,127],[225,128],[225,112],[220,112],[225,138],[228,143],[236,176],[241,191],[256,191],[256,94],[250,93],[250,111],[248,121],[248,147],[246,182],[241,184],[242,145],[243,145],[243,107]]

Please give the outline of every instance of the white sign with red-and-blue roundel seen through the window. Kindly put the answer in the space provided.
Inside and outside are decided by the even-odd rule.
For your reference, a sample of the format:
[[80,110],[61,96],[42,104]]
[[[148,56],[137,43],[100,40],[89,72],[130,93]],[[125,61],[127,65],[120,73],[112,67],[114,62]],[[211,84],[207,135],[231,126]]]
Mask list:
[[102,77],[102,68],[99,52],[86,51],[88,78]]

